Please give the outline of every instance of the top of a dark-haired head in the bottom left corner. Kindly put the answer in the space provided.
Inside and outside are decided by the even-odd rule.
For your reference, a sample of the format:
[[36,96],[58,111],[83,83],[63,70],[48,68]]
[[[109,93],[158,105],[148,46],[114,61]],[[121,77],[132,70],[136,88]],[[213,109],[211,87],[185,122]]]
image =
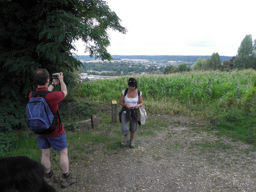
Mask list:
[[28,157],[17,156],[0,159],[1,191],[56,192],[44,180],[44,166]]

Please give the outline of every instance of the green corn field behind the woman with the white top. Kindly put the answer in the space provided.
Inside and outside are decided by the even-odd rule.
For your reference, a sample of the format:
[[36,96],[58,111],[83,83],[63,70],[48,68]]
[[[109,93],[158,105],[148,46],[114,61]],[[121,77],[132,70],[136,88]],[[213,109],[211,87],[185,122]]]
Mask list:
[[[119,102],[131,76],[96,80],[79,85],[77,94],[91,101]],[[134,76],[150,113],[180,114],[207,119],[221,113],[254,115],[256,72],[187,72]],[[241,113],[241,114],[240,114]]]

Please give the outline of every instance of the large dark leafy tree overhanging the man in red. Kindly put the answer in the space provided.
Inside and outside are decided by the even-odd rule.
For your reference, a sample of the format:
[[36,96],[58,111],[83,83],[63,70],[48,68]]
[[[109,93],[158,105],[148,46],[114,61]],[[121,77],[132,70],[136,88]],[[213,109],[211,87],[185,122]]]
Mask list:
[[64,72],[69,86],[81,62],[72,56],[82,39],[90,56],[111,59],[107,30],[126,33],[103,0],[0,1],[0,122],[11,129],[26,125],[33,71]]

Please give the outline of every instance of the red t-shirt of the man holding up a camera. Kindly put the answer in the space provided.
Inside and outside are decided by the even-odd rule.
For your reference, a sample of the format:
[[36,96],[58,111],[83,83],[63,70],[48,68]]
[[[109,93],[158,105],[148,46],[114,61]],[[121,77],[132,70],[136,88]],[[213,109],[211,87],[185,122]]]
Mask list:
[[[36,89],[37,91],[43,91],[43,90],[48,90],[48,87],[40,87]],[[32,92],[29,94],[29,99],[32,97]],[[37,95],[37,97],[40,97],[40,95]],[[48,104],[50,110],[52,111],[52,114],[55,114],[58,110],[59,107],[59,102],[61,102],[65,97],[65,93],[63,91],[53,91],[52,93],[48,93],[45,95],[45,101]],[[59,118],[57,118],[57,125],[56,129],[48,134],[38,134],[39,136],[44,136],[44,137],[58,137],[63,135],[65,133],[64,128],[62,124],[60,123]]]

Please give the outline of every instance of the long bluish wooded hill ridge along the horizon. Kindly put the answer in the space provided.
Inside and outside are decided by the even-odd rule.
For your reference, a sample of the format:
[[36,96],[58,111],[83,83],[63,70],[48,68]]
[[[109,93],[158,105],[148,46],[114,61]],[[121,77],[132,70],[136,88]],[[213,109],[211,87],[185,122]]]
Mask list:
[[[199,57],[202,59],[206,59],[209,56],[186,56],[186,55],[111,55],[112,58],[115,60],[120,60],[120,59],[147,59],[150,61],[184,61],[184,63],[189,62],[189,63],[195,63]],[[221,62],[226,60],[232,59],[231,56],[220,56],[221,57]],[[76,59],[81,59],[85,61],[89,60],[94,60],[94,57],[91,58],[88,55],[79,55],[78,57],[75,56]]]

